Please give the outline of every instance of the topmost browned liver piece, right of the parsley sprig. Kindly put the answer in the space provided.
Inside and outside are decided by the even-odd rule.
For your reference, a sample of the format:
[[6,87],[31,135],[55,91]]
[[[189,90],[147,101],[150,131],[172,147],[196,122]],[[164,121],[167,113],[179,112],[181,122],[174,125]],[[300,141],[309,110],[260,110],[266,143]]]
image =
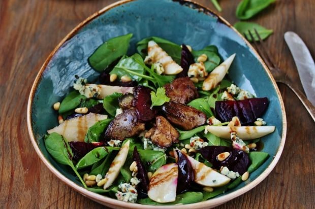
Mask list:
[[198,98],[198,91],[194,83],[188,77],[177,78],[165,86],[166,95],[172,100],[186,104]]

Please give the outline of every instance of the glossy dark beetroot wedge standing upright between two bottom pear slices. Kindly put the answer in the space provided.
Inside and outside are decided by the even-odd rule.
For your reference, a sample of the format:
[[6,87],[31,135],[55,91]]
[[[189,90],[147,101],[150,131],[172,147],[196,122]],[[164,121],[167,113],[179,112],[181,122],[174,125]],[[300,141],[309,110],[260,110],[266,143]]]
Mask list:
[[179,194],[191,187],[194,182],[194,170],[187,157],[179,150],[176,150],[176,161],[178,165],[178,180],[176,193]]

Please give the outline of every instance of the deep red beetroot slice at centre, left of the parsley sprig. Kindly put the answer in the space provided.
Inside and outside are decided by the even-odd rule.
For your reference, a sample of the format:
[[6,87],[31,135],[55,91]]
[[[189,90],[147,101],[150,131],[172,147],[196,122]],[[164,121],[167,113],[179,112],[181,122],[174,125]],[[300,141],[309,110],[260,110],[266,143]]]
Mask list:
[[151,91],[150,88],[145,86],[138,86],[135,91],[136,107],[140,121],[152,120],[157,113],[154,108],[151,109]]

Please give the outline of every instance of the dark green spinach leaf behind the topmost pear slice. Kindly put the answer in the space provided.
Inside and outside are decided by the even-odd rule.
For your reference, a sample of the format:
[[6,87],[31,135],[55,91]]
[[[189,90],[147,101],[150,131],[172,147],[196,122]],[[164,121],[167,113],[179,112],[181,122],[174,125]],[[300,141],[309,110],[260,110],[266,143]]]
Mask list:
[[151,40],[159,45],[168,55],[170,55],[176,63],[180,63],[181,47],[173,42],[159,37],[149,37],[137,43],[137,51],[143,58],[148,54],[148,42]]

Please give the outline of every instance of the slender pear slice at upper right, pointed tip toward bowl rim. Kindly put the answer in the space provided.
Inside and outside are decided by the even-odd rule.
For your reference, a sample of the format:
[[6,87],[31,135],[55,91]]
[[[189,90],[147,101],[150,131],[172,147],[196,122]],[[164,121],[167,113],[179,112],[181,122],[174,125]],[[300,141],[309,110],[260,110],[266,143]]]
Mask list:
[[215,88],[217,84],[223,80],[223,78],[229,71],[229,68],[234,60],[234,57],[235,53],[213,69],[209,76],[204,80],[202,84],[202,90],[209,91]]

